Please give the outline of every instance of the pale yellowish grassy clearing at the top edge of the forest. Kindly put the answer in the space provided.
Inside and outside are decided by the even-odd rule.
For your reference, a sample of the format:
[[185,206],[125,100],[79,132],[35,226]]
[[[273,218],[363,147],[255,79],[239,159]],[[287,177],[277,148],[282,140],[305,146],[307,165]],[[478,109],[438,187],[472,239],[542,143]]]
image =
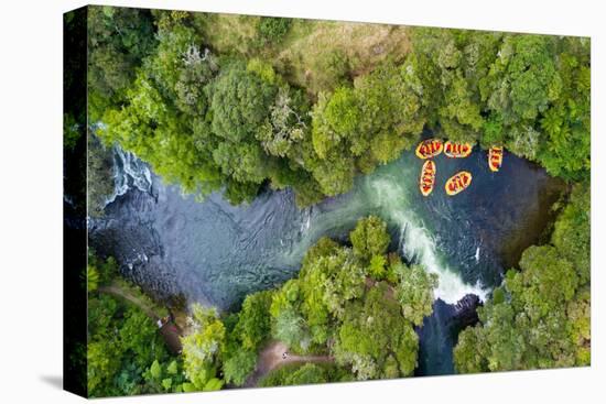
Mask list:
[[368,73],[387,57],[402,59],[410,50],[405,26],[318,20],[293,20],[280,43],[260,46],[260,20],[209,15],[204,36],[218,53],[272,61],[291,84],[305,88],[312,97]]

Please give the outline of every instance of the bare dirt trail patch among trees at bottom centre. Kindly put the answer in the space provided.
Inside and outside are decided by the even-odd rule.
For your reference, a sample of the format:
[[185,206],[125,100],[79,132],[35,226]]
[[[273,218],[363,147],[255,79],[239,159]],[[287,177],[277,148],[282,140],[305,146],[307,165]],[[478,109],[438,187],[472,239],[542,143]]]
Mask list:
[[299,356],[289,352],[289,348],[280,341],[270,342],[259,353],[257,368],[248,378],[245,386],[253,387],[259,381],[272,370],[288,363],[304,363],[304,362],[333,362],[335,359],[329,356]]

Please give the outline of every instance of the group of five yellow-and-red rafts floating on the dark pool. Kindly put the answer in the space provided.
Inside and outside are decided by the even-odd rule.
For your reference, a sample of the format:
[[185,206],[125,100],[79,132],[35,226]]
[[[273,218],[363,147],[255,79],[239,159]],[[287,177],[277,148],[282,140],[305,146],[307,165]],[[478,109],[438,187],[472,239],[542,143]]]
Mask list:
[[[433,190],[435,185],[435,162],[431,160],[440,153],[444,152],[451,159],[465,159],[472,154],[474,146],[469,143],[454,143],[446,141],[443,143],[440,139],[428,139],[419,143],[416,146],[416,156],[426,160],[421,170],[421,178],[419,179],[419,189],[423,196],[428,196]],[[488,168],[493,172],[498,172],[502,164],[502,148],[494,146],[488,151]],[[444,189],[450,196],[456,195],[466,189],[472,184],[472,173],[461,171],[446,181]]]

